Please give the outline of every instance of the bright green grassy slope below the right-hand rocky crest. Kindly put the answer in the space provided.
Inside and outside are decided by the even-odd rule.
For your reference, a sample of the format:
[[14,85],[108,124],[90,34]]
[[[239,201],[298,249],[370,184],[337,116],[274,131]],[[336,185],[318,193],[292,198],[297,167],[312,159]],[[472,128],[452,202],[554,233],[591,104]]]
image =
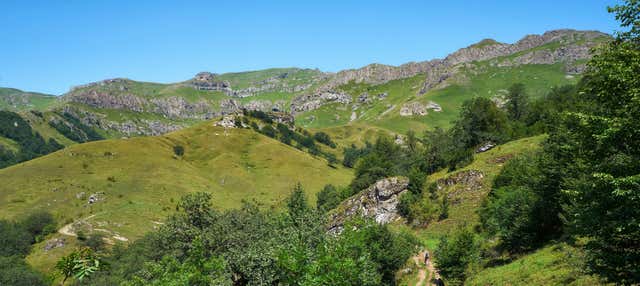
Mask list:
[[[353,104],[341,106],[331,104],[320,109],[301,113],[297,121],[301,126],[310,128],[328,128],[358,123],[371,125],[396,133],[408,130],[424,131],[434,127],[449,127],[458,116],[459,108],[465,100],[475,96],[493,97],[504,92],[513,83],[523,83],[531,97],[544,95],[554,86],[576,83],[578,78],[567,76],[561,64],[522,65],[518,67],[491,67],[486,63],[475,63],[476,68],[463,72],[462,83],[454,83],[442,89],[434,89],[424,95],[418,95],[424,75],[390,81],[381,85],[348,84],[342,89],[351,94],[354,100],[367,92],[370,96],[387,92],[383,100],[362,105],[356,110],[358,119],[350,122]],[[429,101],[438,103],[443,111],[429,111],[425,116],[400,116],[404,103]]]

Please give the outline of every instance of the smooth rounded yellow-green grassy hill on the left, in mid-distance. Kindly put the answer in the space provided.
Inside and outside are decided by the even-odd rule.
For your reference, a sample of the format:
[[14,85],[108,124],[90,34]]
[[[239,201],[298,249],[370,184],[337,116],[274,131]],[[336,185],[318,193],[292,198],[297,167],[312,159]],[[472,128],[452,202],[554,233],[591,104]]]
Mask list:
[[[177,145],[183,157],[174,155]],[[92,226],[132,239],[187,192],[210,192],[219,208],[242,200],[272,206],[297,182],[314,198],[326,182],[350,178],[349,170],[253,131],[205,122],[162,137],[78,144],[0,170],[0,217],[44,209],[69,223],[94,215]],[[92,194],[100,199],[88,204]]]

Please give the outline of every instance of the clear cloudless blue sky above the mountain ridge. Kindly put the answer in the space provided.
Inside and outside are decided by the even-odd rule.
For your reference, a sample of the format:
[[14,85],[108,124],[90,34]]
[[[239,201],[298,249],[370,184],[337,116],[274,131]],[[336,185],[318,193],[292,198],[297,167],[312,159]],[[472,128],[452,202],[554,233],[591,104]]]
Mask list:
[[53,94],[113,77],[338,71],[441,58],[484,38],[618,28],[618,0],[0,0],[0,86]]

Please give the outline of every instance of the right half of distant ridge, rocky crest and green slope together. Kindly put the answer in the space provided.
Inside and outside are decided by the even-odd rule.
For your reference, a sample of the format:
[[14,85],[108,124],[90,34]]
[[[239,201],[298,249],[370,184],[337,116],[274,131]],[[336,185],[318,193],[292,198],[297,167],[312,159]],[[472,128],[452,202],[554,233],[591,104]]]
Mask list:
[[444,60],[340,72],[342,79],[324,86],[326,91],[296,98],[292,108],[299,124],[312,128],[353,123],[393,132],[447,127],[462,102],[474,96],[500,102],[514,83],[523,83],[533,97],[576,83],[590,49],[608,39],[599,32],[558,30],[515,44],[483,40]]

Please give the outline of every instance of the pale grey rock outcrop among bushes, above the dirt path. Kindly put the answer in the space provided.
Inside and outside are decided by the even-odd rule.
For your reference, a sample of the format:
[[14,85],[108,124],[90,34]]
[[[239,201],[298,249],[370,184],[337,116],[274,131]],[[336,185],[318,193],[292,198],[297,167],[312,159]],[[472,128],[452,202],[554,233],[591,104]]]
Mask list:
[[340,233],[344,222],[356,215],[373,218],[380,224],[398,218],[398,203],[401,194],[407,191],[409,179],[391,177],[377,181],[366,190],[342,202],[329,218],[329,232]]

